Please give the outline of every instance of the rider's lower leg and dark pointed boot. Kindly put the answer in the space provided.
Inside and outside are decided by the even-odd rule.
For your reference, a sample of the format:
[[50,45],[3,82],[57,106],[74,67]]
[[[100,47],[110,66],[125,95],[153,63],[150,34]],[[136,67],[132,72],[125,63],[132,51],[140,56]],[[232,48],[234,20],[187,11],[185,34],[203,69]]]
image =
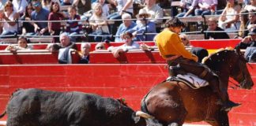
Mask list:
[[210,82],[210,86],[212,87],[213,91],[217,93],[217,95],[220,96],[221,101],[223,102],[222,109],[225,111],[231,110],[233,107],[238,107],[241,104],[235,103],[229,100],[228,98],[228,92],[225,90],[225,88],[221,87],[221,83],[218,80],[217,77],[214,77],[213,80]]

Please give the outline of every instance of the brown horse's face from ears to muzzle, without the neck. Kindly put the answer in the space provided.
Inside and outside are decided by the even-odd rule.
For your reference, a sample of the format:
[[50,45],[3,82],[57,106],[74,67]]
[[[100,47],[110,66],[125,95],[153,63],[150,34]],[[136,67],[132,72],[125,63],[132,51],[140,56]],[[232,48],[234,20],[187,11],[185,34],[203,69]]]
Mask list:
[[251,89],[251,87],[254,86],[254,82],[247,69],[247,60],[243,57],[243,54],[241,54],[239,47],[235,50],[234,63],[231,67],[232,71],[230,76],[240,83],[240,87]]

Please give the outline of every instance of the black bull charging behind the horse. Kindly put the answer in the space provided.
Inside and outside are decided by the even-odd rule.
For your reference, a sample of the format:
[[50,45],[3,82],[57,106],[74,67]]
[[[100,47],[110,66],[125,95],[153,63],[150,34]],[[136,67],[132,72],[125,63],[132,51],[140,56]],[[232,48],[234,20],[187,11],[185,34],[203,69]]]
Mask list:
[[144,118],[118,100],[81,92],[19,90],[10,98],[6,113],[7,126],[145,125]]

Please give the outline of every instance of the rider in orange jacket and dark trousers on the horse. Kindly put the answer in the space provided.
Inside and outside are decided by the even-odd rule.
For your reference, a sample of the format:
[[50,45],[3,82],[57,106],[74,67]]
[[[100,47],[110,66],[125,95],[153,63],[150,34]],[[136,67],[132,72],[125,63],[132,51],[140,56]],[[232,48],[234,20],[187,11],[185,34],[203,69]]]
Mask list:
[[228,111],[232,107],[239,106],[239,104],[232,102],[228,98],[228,91],[220,84],[218,76],[210,71],[210,69],[198,63],[198,57],[191,54],[185,49],[179,33],[185,24],[177,17],[171,17],[165,23],[165,28],[158,35],[156,35],[156,45],[160,51],[160,55],[167,61],[170,68],[170,76],[176,76],[177,73],[184,74],[186,72],[193,73],[201,79],[207,80],[210,87],[217,95],[220,95],[224,110]]

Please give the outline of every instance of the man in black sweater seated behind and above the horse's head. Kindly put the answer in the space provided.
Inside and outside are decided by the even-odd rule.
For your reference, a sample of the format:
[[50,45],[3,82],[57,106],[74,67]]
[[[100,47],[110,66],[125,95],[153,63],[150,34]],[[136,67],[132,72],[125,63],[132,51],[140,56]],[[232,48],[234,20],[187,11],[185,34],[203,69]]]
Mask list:
[[205,34],[206,39],[229,39],[227,32],[217,26],[217,20],[214,17],[209,18],[208,29]]

